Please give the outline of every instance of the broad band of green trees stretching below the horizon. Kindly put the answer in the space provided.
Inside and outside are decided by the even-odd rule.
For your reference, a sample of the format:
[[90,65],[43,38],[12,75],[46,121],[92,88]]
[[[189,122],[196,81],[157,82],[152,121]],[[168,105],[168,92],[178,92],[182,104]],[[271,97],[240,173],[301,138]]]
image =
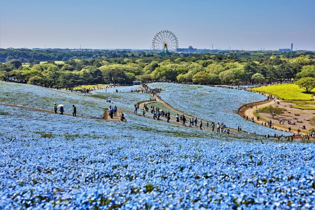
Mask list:
[[70,88],[100,83],[131,84],[134,80],[242,84],[315,77],[315,54],[312,52],[179,54],[165,58],[126,53],[130,56],[29,64],[11,59],[0,64],[0,78],[14,77],[28,83]]

